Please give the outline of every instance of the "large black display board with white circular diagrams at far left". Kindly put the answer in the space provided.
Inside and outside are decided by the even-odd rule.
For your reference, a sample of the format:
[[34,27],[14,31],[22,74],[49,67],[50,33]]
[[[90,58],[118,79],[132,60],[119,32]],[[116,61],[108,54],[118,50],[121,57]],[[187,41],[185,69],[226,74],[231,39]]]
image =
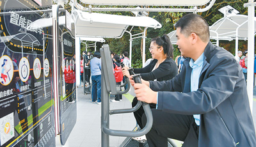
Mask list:
[[0,1],[0,146],[55,146],[51,3]]

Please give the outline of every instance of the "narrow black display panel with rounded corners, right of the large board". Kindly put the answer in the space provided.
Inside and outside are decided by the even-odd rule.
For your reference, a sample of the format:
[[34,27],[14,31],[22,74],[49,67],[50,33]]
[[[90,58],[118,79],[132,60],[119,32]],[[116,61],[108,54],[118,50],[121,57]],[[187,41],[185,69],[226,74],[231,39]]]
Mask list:
[[76,125],[76,56],[75,39],[64,26],[59,27],[58,60],[59,95],[60,95],[60,139],[65,144],[72,129]]

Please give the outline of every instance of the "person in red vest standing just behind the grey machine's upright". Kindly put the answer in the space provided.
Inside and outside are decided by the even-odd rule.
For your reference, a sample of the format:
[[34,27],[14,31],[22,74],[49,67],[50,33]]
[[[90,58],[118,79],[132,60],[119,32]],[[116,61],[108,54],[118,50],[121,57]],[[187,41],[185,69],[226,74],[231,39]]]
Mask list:
[[[123,80],[123,73],[122,73],[122,67],[120,65],[121,59],[117,54],[113,57],[113,68],[114,68],[114,75],[116,79],[116,85],[121,85],[121,81]],[[121,90],[121,87],[120,87]],[[115,100],[111,100],[111,102],[120,102],[123,100],[122,95],[115,95]]]

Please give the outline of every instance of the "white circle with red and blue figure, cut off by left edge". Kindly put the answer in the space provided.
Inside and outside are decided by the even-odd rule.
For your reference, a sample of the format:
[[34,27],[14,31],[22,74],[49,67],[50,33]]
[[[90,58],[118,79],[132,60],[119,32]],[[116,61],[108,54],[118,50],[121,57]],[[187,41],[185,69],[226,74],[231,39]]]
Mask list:
[[10,84],[13,78],[13,63],[9,56],[2,56],[0,58],[0,82],[4,86]]

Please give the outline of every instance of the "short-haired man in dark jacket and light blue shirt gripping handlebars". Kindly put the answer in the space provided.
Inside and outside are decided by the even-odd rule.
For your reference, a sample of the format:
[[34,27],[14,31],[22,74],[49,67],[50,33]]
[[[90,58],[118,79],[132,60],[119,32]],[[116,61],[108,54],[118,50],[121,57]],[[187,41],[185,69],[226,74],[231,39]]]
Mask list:
[[146,134],[149,146],[167,146],[167,137],[183,146],[256,146],[246,84],[234,56],[209,42],[209,26],[200,15],[185,15],[175,27],[180,52],[188,57],[182,72],[170,81],[131,80],[138,100],[157,104]]

